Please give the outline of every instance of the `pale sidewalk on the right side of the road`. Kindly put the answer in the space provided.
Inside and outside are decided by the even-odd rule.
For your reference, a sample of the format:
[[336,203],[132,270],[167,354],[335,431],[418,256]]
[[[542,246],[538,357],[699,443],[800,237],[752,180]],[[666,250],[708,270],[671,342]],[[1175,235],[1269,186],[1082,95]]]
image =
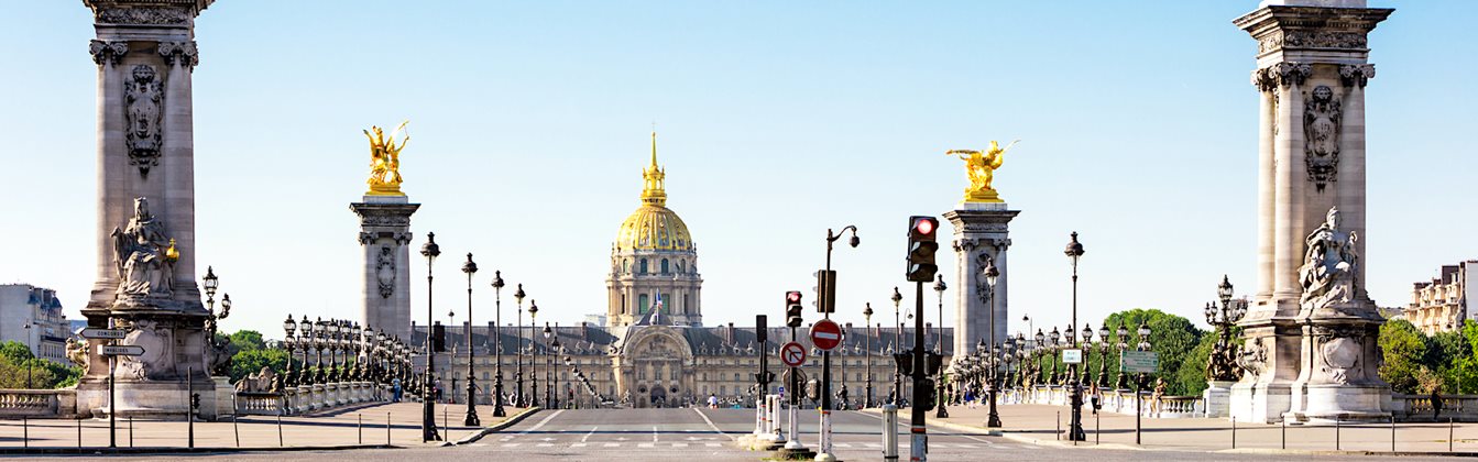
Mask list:
[[[875,410],[869,410],[875,412]],[[1067,428],[1070,409],[1066,406],[1043,404],[1002,404],[998,406],[1002,428],[1007,437],[1035,444],[1072,446],[1066,438],[1058,440],[1057,428]],[[947,419],[936,419],[934,410],[928,412],[928,422],[952,427],[973,428],[980,432],[986,428],[989,409],[978,406],[949,406]],[[909,409],[899,410],[899,419],[907,421]],[[1120,413],[1094,415],[1083,406],[1083,432],[1088,441],[1079,446],[1094,446],[1095,440],[1113,447],[1141,447],[1159,450],[1200,450],[1218,452],[1233,449],[1233,430],[1230,419],[1151,419],[1144,418],[1142,444],[1134,444],[1134,416]],[[1058,427],[1061,425],[1061,427]],[[1478,424],[1453,425],[1453,450],[1459,453],[1478,452]],[[1338,430],[1333,425],[1267,425],[1237,422],[1236,450],[1259,452],[1280,450],[1292,452],[1392,452],[1391,424],[1342,424]],[[1447,453],[1448,427],[1447,424],[1413,422],[1395,425],[1395,452],[1428,452]]]

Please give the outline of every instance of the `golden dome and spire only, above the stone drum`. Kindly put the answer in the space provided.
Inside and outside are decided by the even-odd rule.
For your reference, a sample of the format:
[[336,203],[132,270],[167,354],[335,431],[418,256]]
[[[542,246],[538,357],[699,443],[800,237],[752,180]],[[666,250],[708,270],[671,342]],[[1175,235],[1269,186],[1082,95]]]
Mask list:
[[641,170],[641,207],[621,223],[616,249],[692,251],[687,224],[667,208],[667,173],[656,165],[656,131],[652,131],[652,164]]

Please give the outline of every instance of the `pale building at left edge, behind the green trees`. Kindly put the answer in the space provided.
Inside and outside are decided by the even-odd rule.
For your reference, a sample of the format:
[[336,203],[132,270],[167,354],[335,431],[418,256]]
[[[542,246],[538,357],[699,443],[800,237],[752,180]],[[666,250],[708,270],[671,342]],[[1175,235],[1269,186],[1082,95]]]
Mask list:
[[0,341],[18,341],[40,359],[69,365],[69,322],[56,291],[28,283],[0,285]]

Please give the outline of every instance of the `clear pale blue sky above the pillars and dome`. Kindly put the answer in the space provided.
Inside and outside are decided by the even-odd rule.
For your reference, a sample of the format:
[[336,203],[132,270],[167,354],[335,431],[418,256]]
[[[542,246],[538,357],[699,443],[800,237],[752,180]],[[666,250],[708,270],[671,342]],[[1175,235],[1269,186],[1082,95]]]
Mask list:
[[[80,317],[95,264],[92,16],[75,0],[4,6],[0,282],[55,288]],[[1366,263],[1376,301],[1404,306],[1411,282],[1478,258],[1463,142],[1478,128],[1478,1],[1373,6],[1397,12],[1370,37]],[[610,242],[638,205],[655,121],[706,323],[780,313],[786,289],[813,300],[826,229],[845,224],[862,246],[835,252],[838,317],[860,323],[871,301],[891,322],[906,217],[943,214],[965,186],[943,152],[1021,139],[996,174],[1023,211],[1012,317],[1066,322],[1061,251],[1077,230],[1079,323],[1132,307],[1202,322],[1224,273],[1239,294],[1255,286],[1256,43],[1231,25],[1255,7],[220,0],[197,22],[197,264],[235,301],[226,331],[356,317],[359,130],[409,118],[412,245],[426,232],[442,245],[439,319],[466,317],[471,251],[477,323],[495,269],[541,320],[575,323],[606,310]],[[424,261],[411,272],[424,322]]]

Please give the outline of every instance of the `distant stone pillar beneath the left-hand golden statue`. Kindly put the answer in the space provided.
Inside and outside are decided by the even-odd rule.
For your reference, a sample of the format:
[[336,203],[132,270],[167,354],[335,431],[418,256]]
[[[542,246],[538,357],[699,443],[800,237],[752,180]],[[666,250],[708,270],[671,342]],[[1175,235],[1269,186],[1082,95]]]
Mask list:
[[403,341],[411,341],[411,214],[420,207],[403,195],[365,195],[349,204],[359,216],[365,255],[361,319]]

